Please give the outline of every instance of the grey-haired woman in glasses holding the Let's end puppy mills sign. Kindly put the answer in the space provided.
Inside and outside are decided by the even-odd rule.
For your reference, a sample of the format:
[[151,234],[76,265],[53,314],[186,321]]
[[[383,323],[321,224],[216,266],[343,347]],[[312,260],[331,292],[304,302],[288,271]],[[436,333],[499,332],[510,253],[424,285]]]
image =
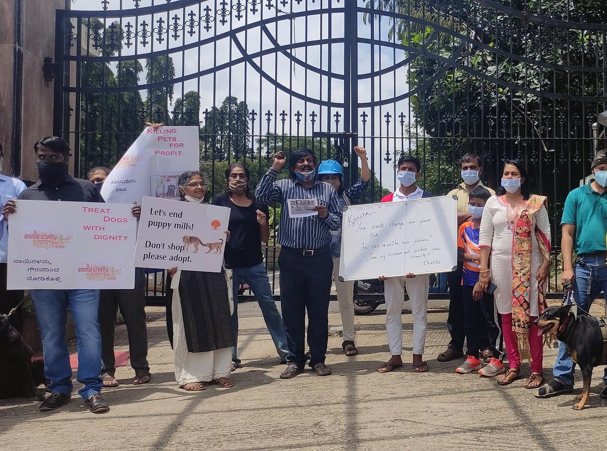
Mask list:
[[[181,201],[202,204],[206,179],[198,171],[179,176]],[[226,236],[226,241],[229,234]],[[169,269],[172,299],[167,321],[172,324],[175,379],[187,391],[205,390],[205,382],[234,387],[229,377],[234,331],[225,272]]]

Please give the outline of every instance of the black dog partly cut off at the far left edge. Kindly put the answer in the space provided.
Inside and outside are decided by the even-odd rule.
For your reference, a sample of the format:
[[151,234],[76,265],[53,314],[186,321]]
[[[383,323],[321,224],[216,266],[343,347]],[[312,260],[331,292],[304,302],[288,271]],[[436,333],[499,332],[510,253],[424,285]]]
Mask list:
[[44,360],[32,362],[32,348],[0,315],[0,398],[24,396],[44,400],[38,385],[44,383]]

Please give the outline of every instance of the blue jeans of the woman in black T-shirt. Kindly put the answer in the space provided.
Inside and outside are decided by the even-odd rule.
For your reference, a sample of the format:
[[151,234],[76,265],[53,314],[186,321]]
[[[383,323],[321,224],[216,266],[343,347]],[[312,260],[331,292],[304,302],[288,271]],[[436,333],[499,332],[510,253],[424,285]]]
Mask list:
[[[268,273],[263,263],[248,268],[232,268],[232,286],[234,287],[234,314],[232,314],[232,327],[236,335],[238,344],[238,287],[241,283],[248,283],[251,291],[255,295],[259,308],[262,310],[263,320],[266,323],[268,332],[272,337],[274,346],[280,359],[285,359],[289,353],[287,346],[287,334],[282,324],[282,317],[276,308],[276,303],[272,297]],[[236,357],[236,346],[232,348],[232,362],[239,364],[240,359]]]

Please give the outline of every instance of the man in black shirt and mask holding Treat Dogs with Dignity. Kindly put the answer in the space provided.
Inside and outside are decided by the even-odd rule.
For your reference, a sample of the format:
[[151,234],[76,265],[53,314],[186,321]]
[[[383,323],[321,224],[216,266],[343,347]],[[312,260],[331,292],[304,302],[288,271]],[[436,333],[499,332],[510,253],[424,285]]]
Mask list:
[[[34,145],[38,157],[38,183],[22,191],[18,199],[35,201],[103,202],[91,182],[67,173],[70,148],[63,139],[51,136]],[[2,214],[16,212],[18,201],[8,201]],[[135,212],[134,212],[135,213]],[[44,212],[40,212],[44,216]],[[10,221],[9,226],[10,230]],[[10,232],[9,232],[10,233]],[[41,411],[55,410],[72,394],[72,368],[67,353],[65,325],[69,308],[78,340],[78,391],[93,413],[109,410],[101,398],[101,336],[98,323],[99,290],[30,290],[38,326],[42,333],[44,369],[51,395],[40,405]]]

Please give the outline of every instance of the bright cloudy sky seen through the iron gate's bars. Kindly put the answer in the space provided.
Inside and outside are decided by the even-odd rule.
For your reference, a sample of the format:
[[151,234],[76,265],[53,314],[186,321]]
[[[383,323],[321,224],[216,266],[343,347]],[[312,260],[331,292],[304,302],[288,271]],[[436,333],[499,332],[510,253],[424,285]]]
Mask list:
[[[151,1],[141,0],[140,7],[150,5]],[[297,123],[294,114],[298,110],[302,114],[305,114],[300,123],[300,134],[311,134],[309,115],[312,111],[317,114],[314,131],[327,131],[330,129],[331,132],[341,132],[344,131],[342,126],[344,119],[343,108],[319,106],[317,102],[343,103],[343,77],[339,79],[319,75],[306,69],[304,65],[308,64],[308,67],[320,68],[325,73],[330,71],[331,73],[344,74],[344,45],[342,43],[319,46],[311,42],[326,39],[328,36],[332,38],[344,37],[344,15],[339,10],[332,15],[331,19],[327,14],[317,13],[319,9],[327,8],[330,4],[337,9],[341,9],[344,1],[356,0],[341,0],[341,2],[337,0],[315,0],[314,2],[307,0],[308,15],[300,16],[292,21],[284,18],[284,13],[276,9],[268,10],[262,7],[262,5],[258,5],[260,11],[256,15],[252,15],[250,10],[247,10],[246,13],[243,12],[243,17],[239,21],[236,19],[235,13],[237,1],[231,0],[228,1],[228,4],[234,7],[234,11],[230,16],[232,20],[231,24],[228,21],[225,25],[222,25],[220,23],[220,16],[218,15],[211,22],[211,29],[208,32],[202,28],[200,35],[195,33],[193,36],[189,36],[186,27],[186,30],[181,30],[181,36],[178,40],[175,41],[169,37],[168,40],[161,44],[154,41],[154,36],[152,36],[149,38],[152,43],[148,44],[148,46],[143,47],[138,43],[137,48],[135,46],[132,46],[130,49],[124,47],[122,55],[137,54],[142,58],[143,64],[143,58],[150,51],[175,49],[175,52],[171,53],[171,57],[174,60],[177,77],[181,75],[187,77],[188,75],[197,74],[205,70],[210,73],[202,77],[195,76],[192,80],[176,84],[174,99],[181,97],[184,92],[191,91],[192,89],[197,90],[200,94],[202,111],[205,108],[210,109],[213,105],[219,106],[227,95],[236,96],[239,100],[246,99],[249,110],[254,109],[258,113],[255,123],[255,134],[264,134],[266,132],[267,122],[263,114],[268,110],[273,113],[270,131],[282,133],[282,123],[280,122],[279,113],[283,109],[288,114],[284,128],[287,134],[297,133]],[[267,2],[263,0],[262,3],[266,4]],[[166,4],[166,2],[164,0],[154,0],[154,4]],[[217,4],[220,4],[220,2],[217,1]],[[273,4],[280,5],[280,2],[273,1]],[[300,5],[297,5],[296,1],[290,1],[287,2],[284,9],[287,10],[292,7],[293,12],[305,11],[305,4],[305,0]],[[358,4],[359,6],[364,6],[365,1],[358,0]],[[109,10],[120,7],[128,9],[132,5],[133,0],[109,0],[108,7]],[[204,15],[204,9],[207,5],[214,7],[215,0],[201,1],[200,7],[198,5],[187,7],[186,14],[189,10],[194,10],[197,14],[200,11]],[[248,7],[250,9],[250,3]],[[74,0],[72,9],[90,10],[93,12],[100,11],[101,1]],[[156,25],[158,18],[162,17],[165,21],[164,26],[166,27],[168,24],[172,24],[171,18],[175,13],[181,17],[183,10],[154,15],[154,17],[151,15],[139,16],[138,21],[141,23],[145,20],[148,24],[154,23]],[[135,16],[124,17],[121,22],[123,29],[127,22],[135,24],[135,20]],[[257,25],[260,20],[268,22],[264,31]],[[112,21],[112,19],[107,19],[106,25]],[[253,27],[243,30],[245,23],[249,25],[253,24]],[[180,24],[183,24],[183,19],[181,19]],[[230,33],[231,30],[232,33]],[[388,22],[386,19],[381,21],[381,26],[379,21],[376,21],[373,31],[376,39],[381,38],[383,41],[393,41],[387,35]],[[265,32],[267,32],[267,35]],[[217,36],[217,39],[214,39],[215,36]],[[361,13],[358,15],[358,36],[359,39],[368,39],[371,36],[371,26],[368,23],[364,23]],[[141,40],[141,38],[137,38],[137,40]],[[287,56],[285,56],[283,53],[272,50],[274,44],[271,40],[276,40],[280,46],[291,47],[291,44],[295,45],[293,48],[287,50]],[[188,44],[192,44],[193,48],[185,51],[177,50],[181,46]],[[297,46],[297,44],[300,45]],[[253,55],[252,61],[258,66],[257,69],[252,64],[244,62],[232,64],[231,66],[228,64],[230,61],[238,61],[239,58],[243,57],[243,51],[240,50],[239,46],[242,47],[245,55]],[[265,55],[256,55],[257,52],[263,52],[264,50],[270,51]],[[331,54],[331,58],[329,58],[329,53]],[[395,186],[395,174],[392,162],[391,164],[387,164],[383,160],[386,150],[389,150],[393,156],[395,150],[399,152],[401,148],[405,151],[409,149],[409,141],[401,139],[402,128],[398,118],[401,112],[405,114],[404,131],[406,133],[410,116],[409,103],[406,99],[399,100],[398,102],[390,101],[395,95],[406,94],[409,90],[409,86],[406,83],[408,66],[404,65],[395,71],[387,71],[387,74],[373,76],[373,88],[368,74],[371,72],[372,63],[375,74],[381,69],[398,64],[399,61],[404,60],[405,56],[402,50],[395,50],[393,47],[388,46],[375,46],[373,55],[371,55],[370,44],[361,42],[358,44],[359,104],[370,102],[372,92],[375,94],[375,100],[387,99],[387,105],[375,108],[373,120],[371,120],[372,112],[370,108],[359,108],[358,144],[364,145],[369,151],[369,155],[371,154],[371,147],[375,146],[373,151],[375,173],[381,178],[382,184],[388,188]],[[213,70],[214,67],[221,66],[222,64],[225,64],[227,67],[222,70]],[[115,67],[115,64],[113,67]],[[274,86],[271,81],[262,77],[260,72],[265,74],[266,78],[276,80],[280,87]],[[144,83],[145,76],[143,75],[141,78],[141,83]],[[215,88],[213,89],[213,87]],[[328,88],[331,88],[330,93]],[[293,92],[293,95],[289,94],[288,89]],[[145,97],[146,92],[142,91],[141,95]],[[312,98],[312,101],[305,102],[298,98],[297,95],[306,95]],[[333,117],[335,112],[341,115],[339,118],[340,123],[337,127]],[[363,112],[368,115],[365,126],[360,116]],[[385,123],[385,114],[387,113],[390,115],[389,126]],[[202,119],[203,116],[201,114]],[[372,128],[374,128],[373,136],[375,138],[370,137]],[[363,131],[365,131],[367,137],[362,137]]]

